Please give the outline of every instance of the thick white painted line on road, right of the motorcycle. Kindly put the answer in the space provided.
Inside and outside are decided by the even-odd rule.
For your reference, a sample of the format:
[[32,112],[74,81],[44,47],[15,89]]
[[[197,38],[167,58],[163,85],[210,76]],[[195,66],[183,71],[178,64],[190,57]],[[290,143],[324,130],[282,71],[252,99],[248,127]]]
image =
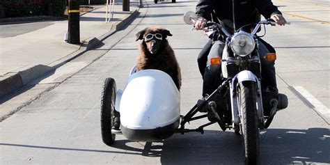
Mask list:
[[326,120],[327,123],[329,124],[329,122],[330,122],[330,109],[328,107],[326,107],[324,104],[322,104],[322,102],[317,100],[311,93],[306,91],[306,89],[303,88],[302,86],[294,86],[293,88],[297,92],[299,92],[300,95],[305,97],[305,99],[308,100],[308,102],[310,102],[313,105],[313,109],[315,111],[317,111],[317,113],[319,113],[320,116],[322,116],[322,118],[324,118],[324,120]]

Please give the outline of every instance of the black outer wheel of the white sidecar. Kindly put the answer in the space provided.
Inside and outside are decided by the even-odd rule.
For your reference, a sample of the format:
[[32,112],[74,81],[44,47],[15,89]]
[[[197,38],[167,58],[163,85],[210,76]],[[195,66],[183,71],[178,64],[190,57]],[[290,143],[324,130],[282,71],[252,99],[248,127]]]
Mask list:
[[101,97],[101,134],[102,141],[111,146],[115,143],[116,134],[111,133],[114,126],[116,101],[116,81],[107,78],[104,81]]

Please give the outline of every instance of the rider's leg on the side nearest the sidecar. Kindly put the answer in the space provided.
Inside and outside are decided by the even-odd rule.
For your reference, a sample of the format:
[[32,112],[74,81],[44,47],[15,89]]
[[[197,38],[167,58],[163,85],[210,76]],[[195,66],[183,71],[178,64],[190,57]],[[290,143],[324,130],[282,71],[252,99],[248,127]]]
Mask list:
[[205,94],[211,94],[221,84],[221,65],[211,65],[211,58],[221,57],[223,47],[222,41],[213,42],[210,54],[207,56],[206,68],[203,77],[203,97]]

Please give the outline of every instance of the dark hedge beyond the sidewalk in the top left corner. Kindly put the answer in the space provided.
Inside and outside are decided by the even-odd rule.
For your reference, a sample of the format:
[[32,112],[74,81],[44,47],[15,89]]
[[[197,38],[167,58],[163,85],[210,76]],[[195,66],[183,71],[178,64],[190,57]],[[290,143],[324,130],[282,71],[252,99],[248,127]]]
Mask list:
[[5,8],[6,17],[26,17],[48,15],[52,4],[54,16],[61,17],[65,11],[65,0],[1,0],[0,7]]

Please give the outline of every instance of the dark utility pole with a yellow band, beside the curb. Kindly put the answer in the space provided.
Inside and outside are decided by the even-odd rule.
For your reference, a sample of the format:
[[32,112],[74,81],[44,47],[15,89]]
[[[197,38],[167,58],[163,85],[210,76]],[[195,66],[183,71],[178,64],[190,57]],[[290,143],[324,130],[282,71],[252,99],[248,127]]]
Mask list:
[[79,27],[79,0],[69,0],[68,6],[68,22],[69,22],[69,38],[70,44],[80,44],[80,27]]

